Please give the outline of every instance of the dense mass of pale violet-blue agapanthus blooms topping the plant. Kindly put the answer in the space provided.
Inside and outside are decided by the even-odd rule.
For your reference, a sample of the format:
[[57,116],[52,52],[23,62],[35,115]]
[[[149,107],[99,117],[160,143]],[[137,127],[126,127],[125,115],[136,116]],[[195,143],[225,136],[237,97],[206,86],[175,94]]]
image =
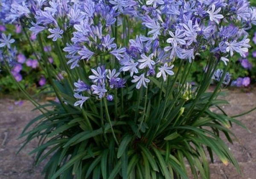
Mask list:
[[[146,33],[119,47],[115,34],[125,15],[141,20]],[[1,18],[29,24],[34,35],[45,31],[52,41],[61,39],[67,44],[63,50],[71,69],[83,61],[95,66],[115,64],[109,70],[129,72],[128,81],[140,89],[147,88],[151,78],[166,81],[174,75],[177,58],[192,63],[205,51],[210,61],[225,65],[235,52],[245,58],[250,48],[246,30],[256,24],[256,9],[247,0],[12,0],[3,1]],[[67,40],[70,32],[72,38]],[[9,40],[1,44],[8,46]],[[250,68],[245,60],[242,65]],[[228,84],[230,77],[225,76]],[[220,77],[221,70],[214,79]],[[105,86],[99,87],[99,81],[90,89],[101,91],[92,94],[102,98]]]

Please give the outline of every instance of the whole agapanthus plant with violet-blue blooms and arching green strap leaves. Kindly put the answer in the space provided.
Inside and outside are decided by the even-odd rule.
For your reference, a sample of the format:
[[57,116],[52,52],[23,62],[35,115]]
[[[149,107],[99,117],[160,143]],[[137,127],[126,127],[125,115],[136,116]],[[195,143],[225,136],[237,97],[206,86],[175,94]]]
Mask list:
[[[32,153],[36,163],[50,156],[46,178],[188,178],[185,160],[195,178],[209,178],[207,153],[239,170],[220,133],[232,142],[231,123],[243,125],[216,97],[230,83],[233,55],[245,57],[250,48],[246,30],[256,24],[256,9],[247,0],[12,0],[2,6],[4,22],[37,35],[35,51],[58,98],[49,104],[53,110],[35,104],[42,115],[21,135],[26,143],[40,138]],[[142,28],[131,31],[131,24]],[[47,40],[61,80],[44,50]],[[205,53],[206,73],[192,87],[190,69]],[[212,79],[218,84],[206,92]]]

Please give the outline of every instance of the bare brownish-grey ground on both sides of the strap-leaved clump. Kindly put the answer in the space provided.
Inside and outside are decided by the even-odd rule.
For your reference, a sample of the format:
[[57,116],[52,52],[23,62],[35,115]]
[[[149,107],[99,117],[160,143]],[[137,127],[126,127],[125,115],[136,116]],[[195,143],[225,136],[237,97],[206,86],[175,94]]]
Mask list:
[[[236,115],[256,106],[256,88],[250,92],[230,90],[224,96],[230,105],[224,110],[230,115]],[[0,99],[0,179],[43,179],[41,170],[44,163],[34,167],[34,155],[28,155],[38,141],[29,143],[19,154],[22,139],[17,139],[25,125],[39,113],[31,111],[33,105],[29,101],[19,106],[13,100]],[[242,174],[235,167],[225,166],[218,159],[210,165],[211,179],[256,179],[256,111],[238,118],[250,130],[244,130],[233,125],[232,131],[237,140],[228,144],[230,150],[239,162]],[[191,177],[192,178],[192,177]]]

